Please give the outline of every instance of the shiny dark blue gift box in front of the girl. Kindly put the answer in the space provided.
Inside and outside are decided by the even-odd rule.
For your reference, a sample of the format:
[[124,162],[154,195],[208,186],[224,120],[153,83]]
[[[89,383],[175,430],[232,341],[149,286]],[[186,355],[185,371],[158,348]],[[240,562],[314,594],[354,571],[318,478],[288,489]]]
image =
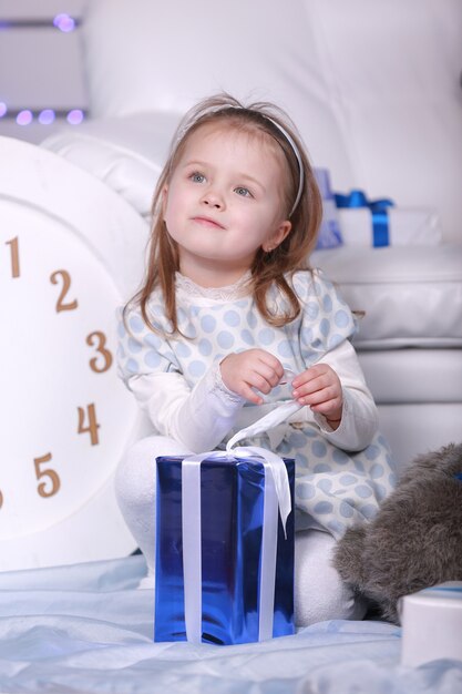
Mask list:
[[[183,514],[187,499],[182,492],[183,458],[161,457],[156,463],[154,640],[186,641]],[[284,465],[294,508],[295,462],[284,459]],[[271,604],[266,609],[270,614],[264,615],[265,467],[251,456],[222,455],[219,459],[205,458],[198,470],[201,537],[199,552],[194,558],[201,570],[199,640],[214,644],[259,641],[261,621],[268,623],[268,618],[273,636],[295,633],[294,513],[289,513],[285,528],[279,516],[275,521],[276,567],[274,575],[265,576],[270,584]],[[189,557],[192,551],[189,548]]]

